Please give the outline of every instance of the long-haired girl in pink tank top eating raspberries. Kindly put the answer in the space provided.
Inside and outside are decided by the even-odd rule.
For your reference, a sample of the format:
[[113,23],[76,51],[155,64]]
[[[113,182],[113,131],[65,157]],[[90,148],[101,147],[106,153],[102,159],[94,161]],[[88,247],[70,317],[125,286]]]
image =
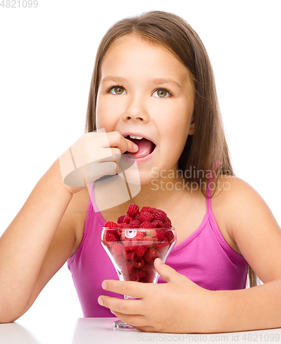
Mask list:
[[[95,61],[86,131],[1,237],[0,321],[24,314],[68,261],[84,316],[113,313],[150,332],[280,327],[280,227],[260,195],[234,176],[212,67],[188,23],[157,11],[109,29]],[[100,210],[106,189],[97,180],[119,172],[120,154],[135,158],[141,190]],[[67,182],[69,161],[81,169],[82,185],[77,175]],[[113,193],[119,184],[111,180]],[[102,226],[130,203],[161,208],[177,230],[167,265],[155,260],[157,285],[116,281],[100,244]],[[253,288],[245,289],[248,266],[262,286],[249,268]]]

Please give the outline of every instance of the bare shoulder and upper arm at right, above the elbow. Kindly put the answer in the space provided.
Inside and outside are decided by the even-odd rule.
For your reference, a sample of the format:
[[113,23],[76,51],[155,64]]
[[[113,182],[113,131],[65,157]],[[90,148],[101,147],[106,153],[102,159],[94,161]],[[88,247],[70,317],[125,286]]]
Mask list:
[[[219,184],[221,182],[221,184]],[[281,229],[269,206],[245,180],[221,175],[214,207],[241,255],[265,283],[281,277]]]

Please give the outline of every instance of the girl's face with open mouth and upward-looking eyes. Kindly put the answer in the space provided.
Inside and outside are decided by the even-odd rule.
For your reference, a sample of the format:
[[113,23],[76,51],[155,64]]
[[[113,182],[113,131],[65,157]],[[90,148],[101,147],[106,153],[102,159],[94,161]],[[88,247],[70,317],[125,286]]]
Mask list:
[[99,80],[97,129],[146,138],[134,140],[141,184],[151,182],[155,172],[164,177],[176,171],[194,133],[194,90],[183,63],[165,47],[133,34],[109,49]]

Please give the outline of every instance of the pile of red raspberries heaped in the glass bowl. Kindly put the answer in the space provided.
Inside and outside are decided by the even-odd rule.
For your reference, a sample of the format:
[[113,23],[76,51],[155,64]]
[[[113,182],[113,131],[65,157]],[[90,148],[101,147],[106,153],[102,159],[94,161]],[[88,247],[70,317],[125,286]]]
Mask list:
[[[104,227],[107,229],[102,243],[111,252],[124,281],[153,283],[154,260],[157,257],[163,260],[175,241],[174,233],[168,229],[172,223],[166,213],[149,206],[139,211],[139,206],[130,204],[126,215],[118,217],[117,223],[106,222]],[[134,228],[143,230],[134,231]]]

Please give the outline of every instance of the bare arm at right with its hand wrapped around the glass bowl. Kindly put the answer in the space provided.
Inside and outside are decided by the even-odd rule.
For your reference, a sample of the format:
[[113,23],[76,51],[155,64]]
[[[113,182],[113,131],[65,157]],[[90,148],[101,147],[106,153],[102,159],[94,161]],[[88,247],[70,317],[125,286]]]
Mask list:
[[[106,290],[141,300],[100,297],[99,302],[139,330],[172,333],[216,333],[281,327],[281,230],[262,197],[243,180],[222,192],[221,211],[229,235],[265,283],[245,290],[205,290],[155,260],[168,283],[145,285],[105,281]],[[227,188],[228,189],[228,188]]]

